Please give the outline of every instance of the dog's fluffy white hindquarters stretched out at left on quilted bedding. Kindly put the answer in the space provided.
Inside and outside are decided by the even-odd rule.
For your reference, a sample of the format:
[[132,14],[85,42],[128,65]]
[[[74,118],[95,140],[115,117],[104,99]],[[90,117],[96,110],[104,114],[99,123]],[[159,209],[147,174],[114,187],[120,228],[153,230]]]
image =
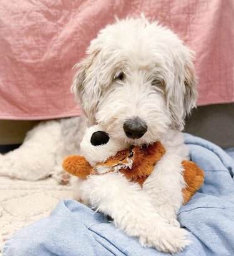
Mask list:
[[0,175],[39,180],[52,174],[57,149],[63,147],[61,134],[59,122],[39,123],[27,133],[21,147],[0,155]]

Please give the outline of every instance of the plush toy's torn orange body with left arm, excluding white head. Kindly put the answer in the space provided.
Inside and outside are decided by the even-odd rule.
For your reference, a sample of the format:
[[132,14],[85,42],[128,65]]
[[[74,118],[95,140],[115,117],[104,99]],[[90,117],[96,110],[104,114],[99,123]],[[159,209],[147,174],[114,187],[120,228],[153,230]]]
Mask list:
[[63,167],[67,172],[79,178],[85,179],[90,174],[105,174],[107,172],[120,172],[141,186],[151,174],[154,165],[165,153],[160,142],[145,147],[133,147],[117,152],[105,162],[99,162],[92,167],[85,157],[71,155],[64,159]]

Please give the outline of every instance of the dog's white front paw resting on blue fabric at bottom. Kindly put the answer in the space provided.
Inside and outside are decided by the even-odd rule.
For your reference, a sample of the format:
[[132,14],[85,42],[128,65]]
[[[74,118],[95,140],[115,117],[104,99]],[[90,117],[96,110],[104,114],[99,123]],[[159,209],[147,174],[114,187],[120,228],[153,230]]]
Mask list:
[[190,241],[187,240],[188,234],[185,229],[178,227],[167,225],[167,227],[162,227],[162,230],[159,230],[158,225],[155,225],[155,229],[151,229],[151,232],[140,236],[139,239],[142,246],[153,247],[160,252],[174,254],[181,252],[186,245],[190,244]]

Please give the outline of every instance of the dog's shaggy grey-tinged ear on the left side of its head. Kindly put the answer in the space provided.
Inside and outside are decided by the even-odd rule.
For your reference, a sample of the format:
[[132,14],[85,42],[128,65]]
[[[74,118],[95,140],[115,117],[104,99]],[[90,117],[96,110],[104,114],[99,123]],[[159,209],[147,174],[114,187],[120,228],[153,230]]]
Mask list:
[[75,94],[79,103],[89,119],[90,124],[95,124],[95,112],[100,98],[98,82],[98,69],[100,50],[93,51],[84,60],[77,63],[74,68],[79,69],[73,79],[71,92]]

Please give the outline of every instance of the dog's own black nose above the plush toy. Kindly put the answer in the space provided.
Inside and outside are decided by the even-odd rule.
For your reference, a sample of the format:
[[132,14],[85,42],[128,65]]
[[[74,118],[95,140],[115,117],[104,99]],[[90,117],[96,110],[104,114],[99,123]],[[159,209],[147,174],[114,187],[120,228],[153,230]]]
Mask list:
[[124,122],[124,132],[130,139],[140,139],[147,129],[147,125],[140,117],[132,117]]

